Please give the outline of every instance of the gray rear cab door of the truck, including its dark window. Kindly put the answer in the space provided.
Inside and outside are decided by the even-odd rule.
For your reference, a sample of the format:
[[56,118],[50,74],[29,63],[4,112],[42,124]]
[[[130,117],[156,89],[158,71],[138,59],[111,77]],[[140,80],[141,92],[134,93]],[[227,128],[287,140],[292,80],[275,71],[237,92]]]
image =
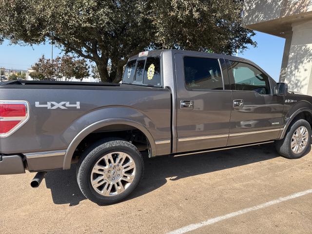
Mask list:
[[224,59],[176,54],[177,152],[226,146],[231,90]]

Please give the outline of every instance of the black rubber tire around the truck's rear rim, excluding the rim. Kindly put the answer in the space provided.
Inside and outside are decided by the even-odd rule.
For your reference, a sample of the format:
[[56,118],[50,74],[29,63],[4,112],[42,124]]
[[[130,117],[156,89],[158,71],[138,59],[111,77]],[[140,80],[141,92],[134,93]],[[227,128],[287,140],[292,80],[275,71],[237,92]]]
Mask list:
[[[129,187],[127,187],[122,193],[114,196],[104,196],[99,194],[92,187],[91,172],[94,165],[101,157],[112,152],[123,152],[132,157],[136,167],[135,177]],[[86,198],[99,205],[109,205],[125,199],[137,187],[143,176],[143,172],[143,157],[133,144],[117,138],[106,138],[90,146],[79,158],[77,166],[77,182],[82,194],[85,195]]]

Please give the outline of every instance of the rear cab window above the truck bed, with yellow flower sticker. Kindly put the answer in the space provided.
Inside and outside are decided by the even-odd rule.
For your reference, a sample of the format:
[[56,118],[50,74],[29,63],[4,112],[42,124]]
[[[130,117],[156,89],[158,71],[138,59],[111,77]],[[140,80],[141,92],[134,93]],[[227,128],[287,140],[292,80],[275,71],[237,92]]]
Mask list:
[[128,61],[122,83],[162,87],[160,58],[146,57]]

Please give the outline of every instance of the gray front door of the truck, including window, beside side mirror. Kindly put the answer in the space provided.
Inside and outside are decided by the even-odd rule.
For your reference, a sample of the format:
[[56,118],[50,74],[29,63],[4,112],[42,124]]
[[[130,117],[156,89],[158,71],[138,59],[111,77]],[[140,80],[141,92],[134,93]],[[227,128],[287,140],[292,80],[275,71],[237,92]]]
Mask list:
[[227,145],[276,139],[283,112],[283,97],[273,95],[276,83],[254,64],[226,62],[232,89],[232,114]]

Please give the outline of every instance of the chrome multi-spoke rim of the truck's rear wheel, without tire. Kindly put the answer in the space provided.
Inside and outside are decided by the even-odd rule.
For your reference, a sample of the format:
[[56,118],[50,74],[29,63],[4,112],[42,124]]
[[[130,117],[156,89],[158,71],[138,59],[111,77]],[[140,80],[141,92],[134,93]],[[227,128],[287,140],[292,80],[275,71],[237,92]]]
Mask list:
[[136,175],[136,164],[124,152],[113,152],[101,157],[91,172],[91,184],[98,194],[115,196],[132,184]]

